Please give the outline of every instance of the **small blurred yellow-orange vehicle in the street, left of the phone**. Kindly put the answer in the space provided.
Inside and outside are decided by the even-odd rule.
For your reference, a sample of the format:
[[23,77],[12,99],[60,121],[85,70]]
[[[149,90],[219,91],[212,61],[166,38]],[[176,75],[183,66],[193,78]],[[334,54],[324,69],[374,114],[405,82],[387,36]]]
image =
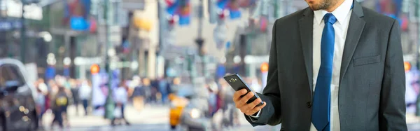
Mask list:
[[183,85],[183,88],[180,88],[174,93],[169,94],[169,101],[171,106],[169,109],[169,124],[171,129],[174,130],[177,125],[180,123],[181,113],[183,109],[188,104],[187,97],[193,95],[193,92],[190,91],[189,85]]

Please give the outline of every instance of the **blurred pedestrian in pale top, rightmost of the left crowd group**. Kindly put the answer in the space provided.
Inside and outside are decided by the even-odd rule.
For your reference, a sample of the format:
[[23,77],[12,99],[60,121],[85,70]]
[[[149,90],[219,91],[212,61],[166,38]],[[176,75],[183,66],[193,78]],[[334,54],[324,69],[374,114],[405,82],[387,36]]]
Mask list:
[[85,116],[87,116],[87,106],[92,95],[92,88],[88,81],[83,81],[78,90],[79,99],[82,101]]

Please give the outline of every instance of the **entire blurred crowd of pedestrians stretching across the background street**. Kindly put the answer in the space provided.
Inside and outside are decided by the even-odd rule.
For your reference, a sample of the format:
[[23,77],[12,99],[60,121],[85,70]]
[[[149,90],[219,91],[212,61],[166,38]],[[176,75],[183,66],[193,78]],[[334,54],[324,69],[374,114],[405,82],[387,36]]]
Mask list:
[[[244,78],[244,80],[255,92],[262,91],[261,81],[258,78]],[[50,122],[50,127],[55,125],[60,128],[69,127],[71,124],[67,114],[69,105],[76,107],[76,114],[85,116],[92,114],[92,110],[95,109],[91,105],[92,82],[89,80],[56,76],[48,81],[39,78],[34,85],[38,92],[36,105],[41,126],[43,126],[43,114],[52,113],[54,118]],[[116,103],[111,125],[122,123],[130,125],[124,117],[127,104],[134,106],[137,111],[144,109],[145,105],[169,105],[169,97],[182,93],[181,88],[191,88],[190,90],[197,88],[187,85],[190,83],[182,83],[181,78],[151,80],[134,76],[132,79],[120,81],[118,86],[111,91]],[[239,124],[235,113],[235,104],[232,101],[234,90],[223,78],[218,81],[206,81],[204,87],[201,88],[206,89],[209,116],[214,116],[218,112],[230,111],[235,114],[232,116],[234,117],[232,119],[235,119],[232,121],[232,125]]]

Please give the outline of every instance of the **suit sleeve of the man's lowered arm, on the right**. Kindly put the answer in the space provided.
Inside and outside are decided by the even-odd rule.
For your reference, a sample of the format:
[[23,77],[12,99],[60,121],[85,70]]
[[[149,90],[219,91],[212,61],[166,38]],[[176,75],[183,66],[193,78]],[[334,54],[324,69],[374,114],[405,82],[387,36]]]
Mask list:
[[405,120],[405,71],[402,59],[400,27],[393,22],[388,37],[384,78],[379,104],[380,130],[407,130]]

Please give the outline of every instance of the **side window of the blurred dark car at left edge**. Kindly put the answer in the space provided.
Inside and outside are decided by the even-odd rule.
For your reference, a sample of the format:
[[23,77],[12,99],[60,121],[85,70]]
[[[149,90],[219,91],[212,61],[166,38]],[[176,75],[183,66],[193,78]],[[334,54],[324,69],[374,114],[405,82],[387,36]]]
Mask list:
[[25,84],[19,67],[13,64],[3,64],[0,66],[0,87],[5,87],[6,81],[18,81],[19,86]]

